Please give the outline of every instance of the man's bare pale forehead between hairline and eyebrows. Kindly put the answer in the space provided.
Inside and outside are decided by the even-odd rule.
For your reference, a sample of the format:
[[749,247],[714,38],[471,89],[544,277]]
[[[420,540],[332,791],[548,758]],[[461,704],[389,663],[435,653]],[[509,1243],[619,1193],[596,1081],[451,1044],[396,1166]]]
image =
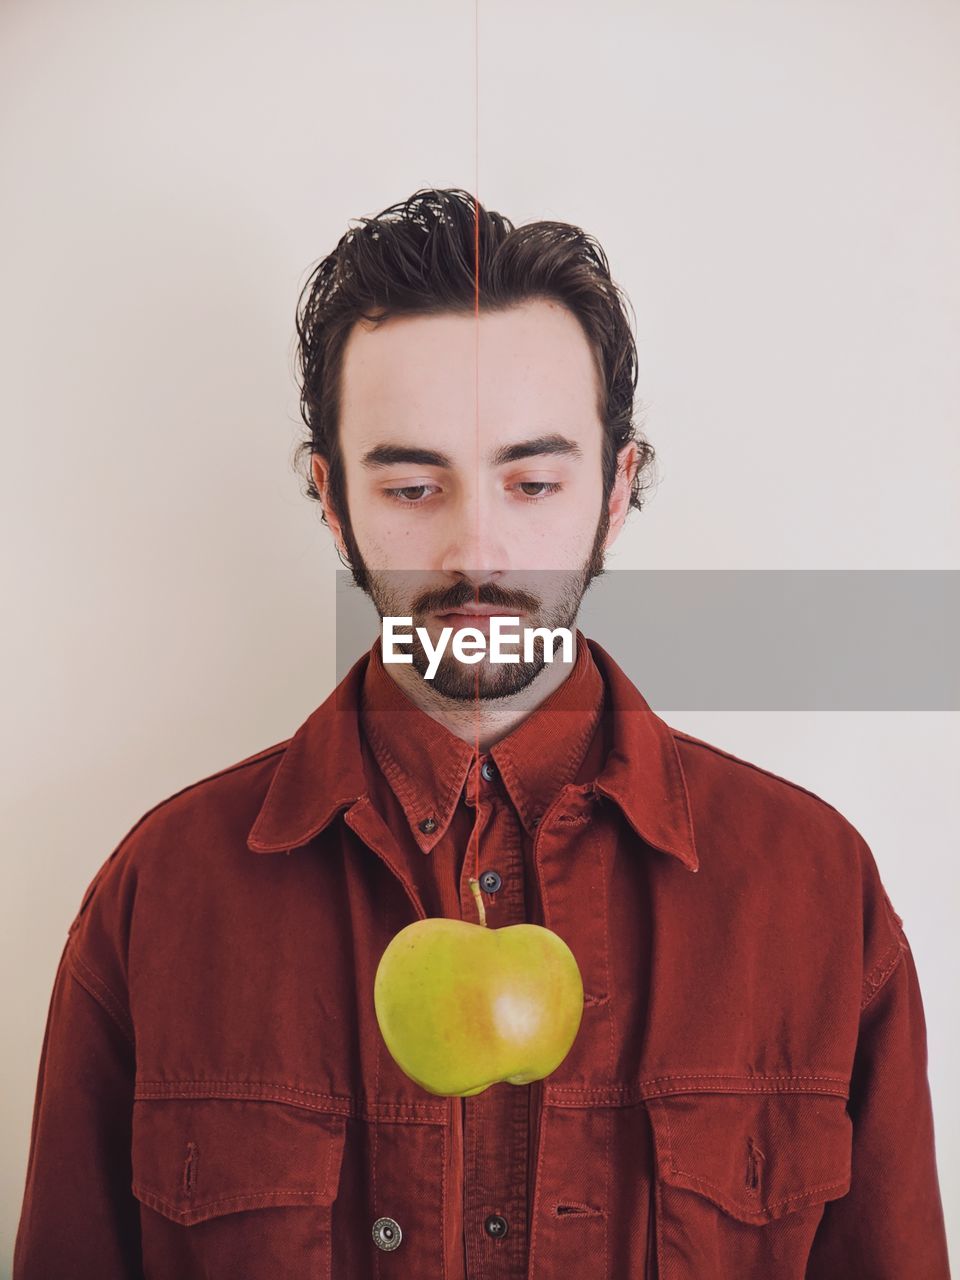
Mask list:
[[535,300],[507,311],[392,316],[353,325],[340,372],[340,435],[384,430],[507,436],[531,426],[582,435],[599,422],[599,374],[580,321]]

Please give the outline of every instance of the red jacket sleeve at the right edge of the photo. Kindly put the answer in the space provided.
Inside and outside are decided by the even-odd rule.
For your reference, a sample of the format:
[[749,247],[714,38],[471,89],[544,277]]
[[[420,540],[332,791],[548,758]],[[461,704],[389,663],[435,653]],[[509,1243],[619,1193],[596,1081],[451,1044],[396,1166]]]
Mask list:
[[950,1277],[920,984],[902,922],[883,901],[893,943],[864,979],[850,1192],[826,1206],[808,1280]]

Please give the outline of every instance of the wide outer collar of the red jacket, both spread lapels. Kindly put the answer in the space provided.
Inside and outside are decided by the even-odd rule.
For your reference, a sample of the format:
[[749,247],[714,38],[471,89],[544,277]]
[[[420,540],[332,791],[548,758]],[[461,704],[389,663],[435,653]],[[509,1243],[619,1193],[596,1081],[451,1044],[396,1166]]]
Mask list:
[[[684,769],[673,732],[595,640],[580,643],[604,678],[609,751],[593,788],[613,800],[634,831],[698,870]],[[375,641],[379,645],[379,639]],[[369,650],[285,745],[250,831],[256,854],[298,849],[357,800],[367,797],[360,744],[360,695]]]

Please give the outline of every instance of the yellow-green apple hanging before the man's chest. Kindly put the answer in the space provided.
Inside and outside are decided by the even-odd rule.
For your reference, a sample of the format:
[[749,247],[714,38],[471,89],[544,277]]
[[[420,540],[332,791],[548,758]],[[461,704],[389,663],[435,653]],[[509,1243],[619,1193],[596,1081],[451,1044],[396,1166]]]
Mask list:
[[387,1048],[411,1080],[468,1098],[556,1070],[580,1029],[584,984],[552,929],[433,916],[390,940],[374,1005]]

